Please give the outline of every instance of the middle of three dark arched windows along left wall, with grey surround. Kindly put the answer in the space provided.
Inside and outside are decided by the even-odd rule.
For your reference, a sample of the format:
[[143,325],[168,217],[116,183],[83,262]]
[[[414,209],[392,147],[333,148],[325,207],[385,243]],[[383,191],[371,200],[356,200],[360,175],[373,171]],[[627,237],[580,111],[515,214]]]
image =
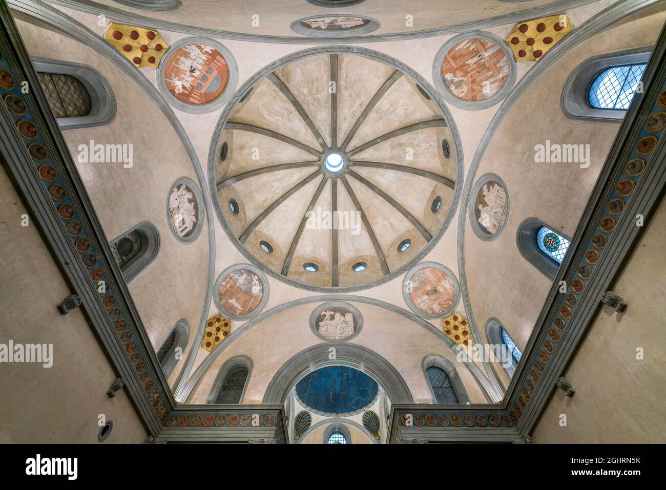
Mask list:
[[109,244],[125,282],[130,282],[155,258],[160,248],[160,234],[151,222],[141,222]]

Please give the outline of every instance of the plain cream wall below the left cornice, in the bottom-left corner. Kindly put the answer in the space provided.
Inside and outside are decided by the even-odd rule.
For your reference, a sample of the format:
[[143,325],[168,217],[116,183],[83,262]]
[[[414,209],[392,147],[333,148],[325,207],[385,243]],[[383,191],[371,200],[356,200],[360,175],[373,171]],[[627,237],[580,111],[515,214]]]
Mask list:
[[0,169],[0,344],[50,344],[51,367],[0,363],[0,443],[98,443],[99,415],[113,421],[106,443],[143,443],[147,433],[127,392],[107,389],[115,369],[81,308],[66,316],[56,306],[71,290],[49,249]]

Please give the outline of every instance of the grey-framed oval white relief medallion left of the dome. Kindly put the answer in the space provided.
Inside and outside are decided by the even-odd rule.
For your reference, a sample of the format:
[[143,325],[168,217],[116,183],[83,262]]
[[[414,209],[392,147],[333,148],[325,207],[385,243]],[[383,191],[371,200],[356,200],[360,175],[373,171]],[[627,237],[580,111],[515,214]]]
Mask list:
[[199,190],[188,178],[180,178],[171,187],[166,202],[171,232],[182,242],[192,242],[201,231],[203,200]]

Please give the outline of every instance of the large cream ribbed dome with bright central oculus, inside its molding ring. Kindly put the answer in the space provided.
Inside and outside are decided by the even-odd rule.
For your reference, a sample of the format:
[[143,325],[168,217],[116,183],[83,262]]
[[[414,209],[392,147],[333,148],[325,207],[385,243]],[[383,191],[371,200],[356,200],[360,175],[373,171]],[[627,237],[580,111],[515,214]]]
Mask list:
[[368,53],[262,71],[212,144],[222,226],[254,264],[296,286],[395,277],[454,211],[452,118],[430,85]]

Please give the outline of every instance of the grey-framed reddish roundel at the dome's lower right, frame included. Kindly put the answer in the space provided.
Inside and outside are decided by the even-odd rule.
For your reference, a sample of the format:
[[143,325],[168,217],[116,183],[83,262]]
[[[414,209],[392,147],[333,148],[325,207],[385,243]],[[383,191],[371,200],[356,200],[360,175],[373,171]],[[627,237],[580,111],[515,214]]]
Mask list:
[[460,286],[450,269],[435,262],[423,262],[405,276],[403,296],[416,314],[442,318],[456,308]]

